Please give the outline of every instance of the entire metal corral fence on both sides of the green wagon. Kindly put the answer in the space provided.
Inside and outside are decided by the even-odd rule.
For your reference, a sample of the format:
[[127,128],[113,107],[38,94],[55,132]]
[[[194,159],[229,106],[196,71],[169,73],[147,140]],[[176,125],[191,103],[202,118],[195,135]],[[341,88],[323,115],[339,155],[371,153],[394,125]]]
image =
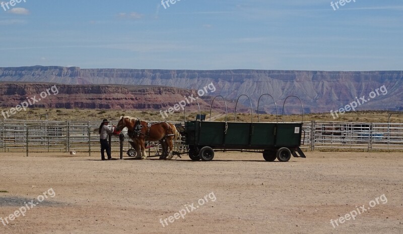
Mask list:
[[[182,125],[183,122],[171,122]],[[111,122],[111,124],[117,124]],[[0,148],[3,152],[93,152],[100,151],[98,128],[100,122],[18,121],[0,123]],[[403,149],[403,124],[304,122],[301,148],[306,150],[337,148],[362,150]],[[125,138],[124,150],[131,148]],[[156,143],[150,143],[156,144]],[[179,139],[174,151],[183,152],[186,146]],[[119,138],[112,137],[112,152],[119,150]],[[151,154],[161,153],[157,145]]]

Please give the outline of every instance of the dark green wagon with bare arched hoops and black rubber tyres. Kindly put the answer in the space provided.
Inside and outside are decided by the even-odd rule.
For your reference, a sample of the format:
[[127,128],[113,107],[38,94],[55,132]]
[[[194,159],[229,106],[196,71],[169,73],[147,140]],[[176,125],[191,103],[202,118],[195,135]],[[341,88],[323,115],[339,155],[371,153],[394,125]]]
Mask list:
[[[269,95],[269,94],[263,94],[263,95]],[[295,97],[295,96],[289,96],[289,97]],[[224,99],[224,97],[222,98]],[[215,98],[213,99],[213,102],[214,100]],[[235,120],[236,120],[236,106],[235,106]],[[276,104],[276,112],[277,112],[277,104]],[[257,111],[257,113],[259,113],[259,111]],[[182,136],[185,137],[185,145],[188,146],[188,155],[192,160],[201,159],[203,161],[210,161],[214,158],[214,151],[231,151],[231,150],[232,151],[254,150],[251,152],[256,152],[256,150],[260,150],[260,152],[262,152],[263,154],[263,158],[266,161],[274,161],[277,158],[279,161],[286,162],[290,160],[291,155],[293,155],[294,157],[303,157],[303,158],[306,157],[300,149],[302,132],[303,132],[302,122],[254,123],[252,120],[250,123],[227,122],[227,121],[215,122],[215,121],[203,121],[202,116],[205,117],[205,115],[201,115],[199,111],[199,115],[197,115],[195,121],[186,121],[186,113],[185,113],[184,126],[182,128],[178,128]],[[284,105],[283,105],[283,116],[284,116]],[[211,118],[211,109],[210,109],[210,118]]]

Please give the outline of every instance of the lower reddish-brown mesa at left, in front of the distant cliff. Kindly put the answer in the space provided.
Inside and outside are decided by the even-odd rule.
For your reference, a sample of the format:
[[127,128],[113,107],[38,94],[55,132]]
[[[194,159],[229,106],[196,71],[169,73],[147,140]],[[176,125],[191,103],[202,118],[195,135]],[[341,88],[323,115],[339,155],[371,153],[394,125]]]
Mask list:
[[[46,92],[51,87],[53,89]],[[30,107],[165,110],[184,97],[195,97],[196,93],[195,90],[156,86],[0,83],[2,107],[16,107],[28,98],[33,104]],[[210,102],[211,97],[199,98],[198,102],[208,105],[205,100]],[[187,108],[194,109],[195,103],[190,102]]]

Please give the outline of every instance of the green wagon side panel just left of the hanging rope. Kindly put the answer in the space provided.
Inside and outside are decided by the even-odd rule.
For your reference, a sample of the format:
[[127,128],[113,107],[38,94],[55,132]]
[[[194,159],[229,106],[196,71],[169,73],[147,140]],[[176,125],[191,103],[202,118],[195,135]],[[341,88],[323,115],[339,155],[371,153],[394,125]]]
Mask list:
[[[199,122],[200,128],[196,125],[196,139],[198,145],[222,145],[224,143],[224,122]],[[197,132],[199,135],[197,136]],[[197,142],[197,141],[196,141]]]

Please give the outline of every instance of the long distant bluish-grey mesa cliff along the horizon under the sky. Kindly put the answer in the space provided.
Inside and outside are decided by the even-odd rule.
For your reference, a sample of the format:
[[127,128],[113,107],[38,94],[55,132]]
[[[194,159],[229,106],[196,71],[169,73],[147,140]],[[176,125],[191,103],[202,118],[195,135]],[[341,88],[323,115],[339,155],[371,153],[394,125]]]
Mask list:
[[[226,99],[236,100],[241,94],[246,94],[251,98],[254,108],[257,106],[257,100],[261,94],[271,94],[277,102],[279,111],[281,111],[285,98],[289,95],[295,95],[301,98],[304,104],[304,112],[328,112],[331,109],[337,109],[345,106],[352,101],[365,96],[369,98],[372,91],[384,86],[387,93],[377,95],[370,101],[367,101],[357,107],[359,110],[378,109],[378,110],[402,110],[403,109],[403,72],[402,71],[369,71],[369,72],[325,72],[325,71],[277,71],[277,70],[134,70],[134,69],[81,69],[77,67],[20,67],[20,68],[0,68],[0,81],[3,82],[50,82],[56,84],[70,85],[96,85],[96,84],[117,84],[117,85],[136,85],[136,86],[169,86],[179,89],[203,89],[206,85],[213,82],[216,87],[214,93],[210,96],[223,95]],[[86,86],[83,86],[86,87]],[[108,86],[113,89],[113,86]],[[101,89],[102,86],[93,86],[91,90]],[[79,89],[77,87],[77,89]],[[124,88],[111,90],[116,97],[122,98],[127,94]],[[164,105],[166,98],[172,97],[175,102],[182,100],[178,95],[174,97],[170,94],[174,92],[169,88],[144,88],[151,91],[145,95],[144,101],[151,99],[159,100],[159,103],[149,104],[113,104],[107,105],[119,108],[159,108]],[[85,97],[87,91],[79,89],[81,97]],[[133,96],[127,97],[127,100],[136,95],[142,95],[138,91]],[[175,92],[177,92],[176,90]],[[121,91],[121,95],[118,93]],[[108,91],[109,92],[109,91]],[[126,93],[125,93],[126,92]],[[145,91],[146,92],[146,91]],[[165,93],[166,92],[166,93]],[[185,92],[185,91],[183,91]],[[69,94],[71,97],[72,94]],[[77,94],[79,95],[79,94]],[[94,94],[95,95],[95,94]],[[96,97],[95,97],[96,96]],[[103,98],[102,94],[91,97]],[[140,98],[137,96],[137,98]],[[159,96],[159,97],[158,97]],[[111,97],[108,97],[111,98]],[[173,100],[172,100],[173,101]],[[262,109],[274,108],[273,101],[264,98]],[[289,102],[289,101],[287,101]],[[70,103],[70,104],[69,104]],[[72,106],[72,103],[66,103],[64,106]],[[249,106],[249,102],[243,97],[241,103]],[[210,104],[210,103],[208,103]],[[296,100],[288,103],[291,109],[300,108]],[[60,104],[63,106],[62,104]],[[80,106],[76,103],[74,106]],[[90,104],[85,101],[83,107],[103,108],[99,104]],[[167,104],[168,105],[168,104]],[[81,107],[81,106],[80,106]],[[294,111],[295,112],[295,111]]]

